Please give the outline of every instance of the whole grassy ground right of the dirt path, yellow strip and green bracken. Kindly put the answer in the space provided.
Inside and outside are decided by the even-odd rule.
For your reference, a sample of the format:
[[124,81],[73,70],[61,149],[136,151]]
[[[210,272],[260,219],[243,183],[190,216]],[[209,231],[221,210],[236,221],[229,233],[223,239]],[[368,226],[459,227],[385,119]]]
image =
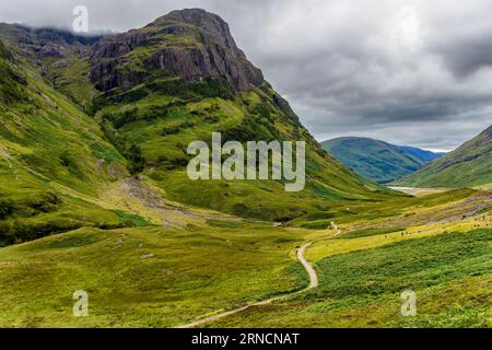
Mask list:
[[[306,237],[319,288],[207,326],[491,326],[491,201],[487,190],[459,189],[374,205],[389,215],[348,218],[337,222],[341,232]],[[417,293],[415,317],[400,313],[407,289]]]

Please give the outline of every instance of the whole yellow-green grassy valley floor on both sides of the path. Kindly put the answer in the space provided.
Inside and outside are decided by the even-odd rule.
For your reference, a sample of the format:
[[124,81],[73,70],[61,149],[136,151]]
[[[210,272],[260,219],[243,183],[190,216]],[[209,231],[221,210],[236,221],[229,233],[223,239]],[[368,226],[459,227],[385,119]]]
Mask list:
[[[365,206],[354,202],[345,210],[363,214],[326,230],[210,213],[195,221],[178,210],[194,220],[180,228],[83,228],[3,247],[0,326],[492,325],[490,191]],[[375,206],[391,211],[366,213]],[[306,273],[300,247],[319,284]],[[72,314],[78,290],[89,294],[86,317]],[[417,293],[414,317],[401,316],[405,290]],[[235,312],[214,317],[229,311]]]

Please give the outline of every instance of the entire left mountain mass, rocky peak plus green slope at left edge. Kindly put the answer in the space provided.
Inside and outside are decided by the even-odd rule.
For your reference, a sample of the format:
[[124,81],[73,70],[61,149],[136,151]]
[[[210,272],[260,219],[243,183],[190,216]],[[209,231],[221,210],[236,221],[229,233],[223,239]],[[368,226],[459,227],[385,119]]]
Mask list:
[[[161,196],[281,222],[331,217],[343,201],[390,194],[326,153],[229,25],[203,10],[103,37],[0,24],[0,39],[3,243],[145,222],[134,206],[120,206],[121,188],[136,182],[155,188],[147,199],[153,207]],[[279,180],[189,179],[187,145],[210,142],[214,131],[223,142],[305,141],[305,190],[286,192]]]

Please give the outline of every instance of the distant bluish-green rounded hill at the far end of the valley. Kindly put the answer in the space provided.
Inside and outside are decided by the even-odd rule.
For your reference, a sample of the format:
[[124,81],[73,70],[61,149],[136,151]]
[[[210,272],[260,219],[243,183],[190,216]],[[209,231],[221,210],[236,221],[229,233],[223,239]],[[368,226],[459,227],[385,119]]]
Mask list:
[[411,174],[444,154],[370,138],[338,138],[321,145],[359,175],[382,184]]

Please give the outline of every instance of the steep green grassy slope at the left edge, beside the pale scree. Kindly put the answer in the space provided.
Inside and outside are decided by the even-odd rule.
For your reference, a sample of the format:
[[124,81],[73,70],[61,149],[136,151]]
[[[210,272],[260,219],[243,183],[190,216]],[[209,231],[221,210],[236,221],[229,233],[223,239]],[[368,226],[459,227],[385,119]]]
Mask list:
[[0,244],[122,224],[72,196],[97,196],[128,174],[99,126],[3,44],[0,77]]

